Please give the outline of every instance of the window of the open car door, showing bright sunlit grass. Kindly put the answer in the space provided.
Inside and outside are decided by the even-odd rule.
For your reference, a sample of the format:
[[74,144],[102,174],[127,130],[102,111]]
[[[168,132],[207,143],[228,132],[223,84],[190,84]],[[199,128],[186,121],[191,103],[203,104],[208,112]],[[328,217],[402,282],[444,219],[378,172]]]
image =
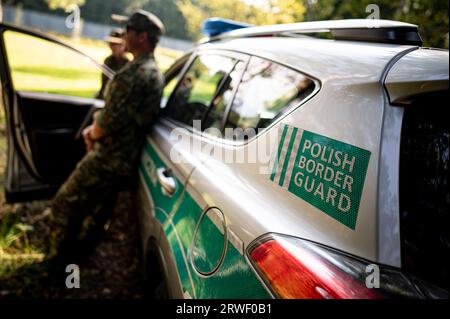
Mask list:
[[93,98],[100,90],[101,69],[78,52],[14,31],[4,41],[16,91]]

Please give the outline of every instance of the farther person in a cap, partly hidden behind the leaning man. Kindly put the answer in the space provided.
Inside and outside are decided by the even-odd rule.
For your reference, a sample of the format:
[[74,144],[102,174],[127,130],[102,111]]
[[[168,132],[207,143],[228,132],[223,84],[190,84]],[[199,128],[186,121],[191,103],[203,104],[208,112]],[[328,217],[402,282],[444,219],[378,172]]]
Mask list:
[[[123,68],[130,60],[126,56],[125,43],[123,40],[124,32],[121,29],[114,29],[111,31],[109,36],[106,38],[106,42],[111,49],[111,55],[108,56],[103,62],[104,65],[108,66],[114,72],[119,71]],[[97,94],[98,99],[104,99],[106,84],[108,84],[108,77],[102,74],[102,87]]]

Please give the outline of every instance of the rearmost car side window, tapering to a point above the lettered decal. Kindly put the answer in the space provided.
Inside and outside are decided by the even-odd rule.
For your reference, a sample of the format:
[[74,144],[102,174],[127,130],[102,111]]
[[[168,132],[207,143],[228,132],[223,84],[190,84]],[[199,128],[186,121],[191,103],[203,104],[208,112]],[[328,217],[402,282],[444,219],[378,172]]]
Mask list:
[[[298,105],[315,88],[300,72],[252,57],[233,101],[226,128],[261,129]],[[244,136],[235,134],[234,138]]]

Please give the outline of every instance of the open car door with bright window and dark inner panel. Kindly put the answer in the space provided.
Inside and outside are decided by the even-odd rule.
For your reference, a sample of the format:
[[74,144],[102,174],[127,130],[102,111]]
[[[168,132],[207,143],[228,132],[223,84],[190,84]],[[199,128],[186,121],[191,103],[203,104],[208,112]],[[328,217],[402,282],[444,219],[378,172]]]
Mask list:
[[113,72],[56,38],[0,24],[9,203],[49,198],[85,154],[82,129],[96,108],[101,75]]

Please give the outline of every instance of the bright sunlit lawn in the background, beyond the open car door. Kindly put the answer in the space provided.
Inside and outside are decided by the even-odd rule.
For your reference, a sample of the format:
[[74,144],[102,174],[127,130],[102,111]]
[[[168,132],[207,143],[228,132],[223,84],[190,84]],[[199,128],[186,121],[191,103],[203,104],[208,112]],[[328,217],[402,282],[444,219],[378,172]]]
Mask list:
[[[60,38],[99,63],[103,63],[110,54],[102,41]],[[100,89],[100,70],[71,50],[12,31],[5,33],[5,43],[17,90],[94,97]],[[162,71],[181,54],[165,48],[158,48],[155,52]]]

